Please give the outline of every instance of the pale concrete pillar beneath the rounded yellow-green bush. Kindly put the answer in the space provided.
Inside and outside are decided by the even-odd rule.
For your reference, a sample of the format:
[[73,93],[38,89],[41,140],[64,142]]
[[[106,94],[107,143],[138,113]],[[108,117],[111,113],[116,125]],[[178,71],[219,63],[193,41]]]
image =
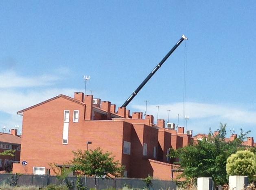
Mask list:
[[243,175],[233,175],[229,177],[228,188],[243,190],[248,185],[248,177]]

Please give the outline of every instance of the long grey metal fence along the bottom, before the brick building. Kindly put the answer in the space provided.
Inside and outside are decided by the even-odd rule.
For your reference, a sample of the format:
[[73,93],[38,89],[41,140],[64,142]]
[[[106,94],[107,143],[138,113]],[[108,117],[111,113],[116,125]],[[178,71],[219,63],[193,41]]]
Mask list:
[[[76,190],[76,186],[80,184],[84,186],[85,178],[67,177],[68,182],[72,184],[73,189]],[[145,188],[146,184],[143,179],[136,178],[116,178],[116,179],[100,179],[97,178],[97,188],[107,189],[116,188],[122,189],[124,186],[130,188]],[[176,190],[176,184],[173,181],[163,181],[152,179],[151,190]],[[11,186],[38,186],[44,187],[49,184],[62,184],[63,181],[57,179],[56,176],[50,175],[15,175],[15,174],[0,174],[0,184],[11,184]],[[87,177],[86,186],[88,189],[94,188],[94,178]]]

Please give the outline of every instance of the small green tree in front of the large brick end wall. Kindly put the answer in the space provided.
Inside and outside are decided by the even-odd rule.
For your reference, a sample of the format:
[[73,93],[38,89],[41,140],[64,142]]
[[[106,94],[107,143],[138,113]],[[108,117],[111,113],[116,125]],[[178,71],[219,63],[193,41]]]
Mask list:
[[96,177],[111,178],[120,176],[123,167],[118,161],[114,161],[114,157],[110,152],[103,152],[101,148],[95,150],[78,150],[73,152],[72,170],[79,171],[81,175],[93,176],[95,190],[97,188]]

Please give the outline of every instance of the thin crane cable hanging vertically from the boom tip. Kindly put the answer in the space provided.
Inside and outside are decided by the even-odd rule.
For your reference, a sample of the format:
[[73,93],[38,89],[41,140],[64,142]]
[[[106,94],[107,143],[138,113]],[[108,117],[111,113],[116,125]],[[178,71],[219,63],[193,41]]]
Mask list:
[[183,73],[183,120],[182,120],[182,126],[184,127],[184,119],[186,114],[186,86],[187,86],[187,57],[188,57],[188,45],[187,40],[185,42],[184,46],[184,73]]

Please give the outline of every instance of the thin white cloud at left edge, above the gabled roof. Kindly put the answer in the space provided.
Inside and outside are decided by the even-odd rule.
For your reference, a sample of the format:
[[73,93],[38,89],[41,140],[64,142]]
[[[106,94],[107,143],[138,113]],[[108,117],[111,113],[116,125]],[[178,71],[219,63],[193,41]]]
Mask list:
[[52,75],[23,77],[14,71],[7,70],[0,73],[0,88],[28,88],[53,85],[58,79],[58,77]]

